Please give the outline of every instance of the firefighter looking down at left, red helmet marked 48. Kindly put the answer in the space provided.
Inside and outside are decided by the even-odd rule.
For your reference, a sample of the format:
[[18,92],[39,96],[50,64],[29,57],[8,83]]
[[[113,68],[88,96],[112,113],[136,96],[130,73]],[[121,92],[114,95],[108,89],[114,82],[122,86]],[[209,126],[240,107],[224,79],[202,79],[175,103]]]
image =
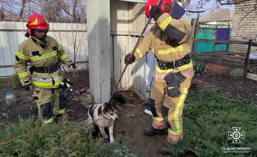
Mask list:
[[[73,96],[66,88],[58,88],[61,84],[62,87],[69,86],[59,72],[59,59],[72,70],[76,69],[76,65],[64,53],[61,44],[46,35],[49,24],[41,14],[31,15],[27,27],[25,36],[31,37],[20,44],[15,54],[14,67],[25,90],[30,90],[31,83],[35,85],[34,100],[37,103],[39,118],[47,124],[53,122],[54,116],[59,117],[64,113],[67,101]],[[28,63],[31,64],[29,71],[32,82],[27,69]],[[51,104],[53,98],[54,109]]]

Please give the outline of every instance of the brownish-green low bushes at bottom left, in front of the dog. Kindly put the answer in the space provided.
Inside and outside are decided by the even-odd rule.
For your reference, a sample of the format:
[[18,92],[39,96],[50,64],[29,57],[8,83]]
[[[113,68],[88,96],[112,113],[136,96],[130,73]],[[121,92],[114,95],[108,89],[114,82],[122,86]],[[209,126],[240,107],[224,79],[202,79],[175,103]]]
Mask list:
[[19,124],[0,132],[0,157],[134,157],[122,144],[93,139],[93,127],[86,121],[74,123],[64,117],[60,123],[44,125],[34,118],[19,119]]

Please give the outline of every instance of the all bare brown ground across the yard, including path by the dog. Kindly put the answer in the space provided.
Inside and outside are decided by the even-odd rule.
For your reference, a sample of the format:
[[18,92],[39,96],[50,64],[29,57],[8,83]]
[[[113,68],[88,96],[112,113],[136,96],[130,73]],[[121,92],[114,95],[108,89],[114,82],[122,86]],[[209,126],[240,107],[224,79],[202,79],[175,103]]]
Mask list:
[[[89,88],[89,73],[87,70],[79,72],[77,83],[73,85],[74,92],[81,88]],[[73,80],[72,74],[66,74]],[[195,74],[195,78],[204,82],[209,82],[216,88],[221,88],[223,91],[229,92],[235,97],[246,98],[249,101],[257,102],[257,81],[247,78],[230,78],[219,77],[204,78],[201,75]],[[5,103],[5,95],[7,92],[15,94],[17,104],[8,106]],[[119,92],[122,94],[127,104],[119,106],[119,120],[115,122],[114,137],[121,139],[122,143],[127,145],[131,152],[142,157],[156,156],[158,154],[158,146],[166,139],[166,136],[144,136],[143,130],[145,126],[151,125],[151,116],[144,113],[145,106],[142,106],[142,101],[130,91]],[[16,90],[8,84],[0,85],[0,129],[4,129],[10,123],[18,123],[18,115],[27,118],[31,115],[37,116],[37,107],[32,98],[33,89],[30,91]],[[131,96],[132,95],[132,96]],[[80,104],[80,100],[70,102],[67,107],[67,114],[71,121],[79,122],[86,120],[87,109]],[[5,116],[5,115],[7,116]]]

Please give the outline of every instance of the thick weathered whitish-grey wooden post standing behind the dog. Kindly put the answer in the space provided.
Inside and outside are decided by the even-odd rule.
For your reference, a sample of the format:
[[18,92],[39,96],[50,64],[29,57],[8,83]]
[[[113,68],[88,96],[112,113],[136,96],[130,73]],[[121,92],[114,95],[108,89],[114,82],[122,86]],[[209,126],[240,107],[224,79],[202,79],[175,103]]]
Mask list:
[[86,6],[90,92],[97,104],[110,98],[110,1],[88,0]]

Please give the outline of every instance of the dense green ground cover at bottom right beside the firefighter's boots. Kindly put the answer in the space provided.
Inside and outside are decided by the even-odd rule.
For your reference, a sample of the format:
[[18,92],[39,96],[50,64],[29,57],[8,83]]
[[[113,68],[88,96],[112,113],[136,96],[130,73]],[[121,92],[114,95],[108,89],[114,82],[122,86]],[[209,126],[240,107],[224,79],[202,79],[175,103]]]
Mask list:
[[[232,127],[245,139],[233,144]],[[174,156],[257,156],[257,106],[217,89],[190,91],[183,110],[184,140],[171,145]],[[250,153],[224,153],[222,147],[250,147]],[[227,150],[225,150],[227,151]]]

